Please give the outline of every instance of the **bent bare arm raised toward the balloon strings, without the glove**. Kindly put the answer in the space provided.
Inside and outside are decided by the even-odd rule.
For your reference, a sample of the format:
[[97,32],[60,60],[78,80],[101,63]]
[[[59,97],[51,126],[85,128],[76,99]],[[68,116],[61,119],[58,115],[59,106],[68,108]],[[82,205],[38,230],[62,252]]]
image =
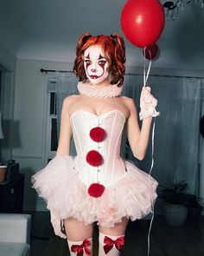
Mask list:
[[140,130],[137,119],[137,109],[134,101],[128,98],[128,108],[130,116],[127,120],[127,137],[131,146],[132,154],[138,160],[143,160],[150,139],[150,128],[152,117],[143,119],[142,128]]

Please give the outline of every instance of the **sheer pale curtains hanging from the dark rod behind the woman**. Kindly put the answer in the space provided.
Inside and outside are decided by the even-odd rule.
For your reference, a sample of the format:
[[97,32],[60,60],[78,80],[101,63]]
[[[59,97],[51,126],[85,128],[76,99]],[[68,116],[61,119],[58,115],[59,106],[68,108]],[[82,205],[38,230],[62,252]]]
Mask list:
[[[188,182],[188,192],[194,194],[199,182],[199,124],[203,80],[150,75],[148,84],[158,100],[156,109],[161,112],[161,115],[156,117],[155,164],[152,176],[164,186],[185,180]],[[72,73],[57,74],[58,128],[63,98],[78,94],[76,85],[77,80]],[[142,85],[143,75],[125,75],[123,95],[134,99],[137,113]],[[140,121],[139,124],[141,125]],[[150,171],[151,143],[143,161],[137,161],[131,154],[126,139],[122,149],[126,158],[134,161],[143,171],[147,173]]]

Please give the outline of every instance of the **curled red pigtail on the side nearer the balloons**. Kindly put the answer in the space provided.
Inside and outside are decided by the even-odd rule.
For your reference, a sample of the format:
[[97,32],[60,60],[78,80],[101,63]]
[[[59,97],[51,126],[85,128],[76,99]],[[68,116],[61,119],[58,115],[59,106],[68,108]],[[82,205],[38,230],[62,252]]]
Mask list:
[[126,61],[125,57],[125,47],[124,39],[118,33],[113,33],[111,35],[112,42],[115,46],[114,57],[115,60],[112,63],[112,84],[118,82],[118,86],[121,86],[124,82],[124,63]]

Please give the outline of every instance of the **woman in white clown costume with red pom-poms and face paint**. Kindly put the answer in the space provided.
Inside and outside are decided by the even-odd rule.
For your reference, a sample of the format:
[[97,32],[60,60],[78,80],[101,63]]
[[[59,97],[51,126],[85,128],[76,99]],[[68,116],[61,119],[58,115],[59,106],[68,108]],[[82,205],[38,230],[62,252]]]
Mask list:
[[[142,160],[152,116],[159,115],[150,88],[143,88],[140,130],[133,100],[120,95],[124,62],[124,40],[118,34],[80,37],[73,67],[80,94],[64,100],[56,157],[33,176],[35,189],[48,203],[54,232],[67,238],[71,255],[92,255],[95,221],[99,256],[119,255],[128,220],[143,218],[156,200],[157,182],[120,157],[124,125],[132,153]],[[72,135],[74,158],[69,155]]]

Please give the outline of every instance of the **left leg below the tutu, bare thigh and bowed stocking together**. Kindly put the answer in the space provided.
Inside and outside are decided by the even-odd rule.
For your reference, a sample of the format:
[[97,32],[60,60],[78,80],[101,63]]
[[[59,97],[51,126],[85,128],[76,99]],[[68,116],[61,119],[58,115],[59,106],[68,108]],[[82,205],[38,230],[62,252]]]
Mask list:
[[64,220],[67,243],[71,256],[81,251],[92,256],[92,225],[85,225],[73,218]]

